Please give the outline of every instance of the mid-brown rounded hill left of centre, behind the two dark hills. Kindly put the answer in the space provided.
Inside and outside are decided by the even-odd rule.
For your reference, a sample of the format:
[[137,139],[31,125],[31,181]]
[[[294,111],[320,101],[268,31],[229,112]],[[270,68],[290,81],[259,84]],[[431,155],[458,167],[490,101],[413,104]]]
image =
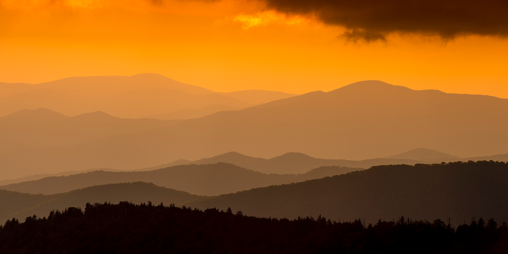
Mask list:
[[305,181],[325,176],[340,175],[363,170],[359,168],[327,167],[314,169],[305,174],[263,174],[240,168],[227,163],[207,165],[179,165],[165,169],[141,172],[93,171],[70,176],[45,177],[35,181],[26,181],[0,186],[0,189],[32,194],[56,194],[93,185],[120,182],[153,182],[183,190],[184,192],[214,196],[234,193],[256,187],[268,186],[279,182]]

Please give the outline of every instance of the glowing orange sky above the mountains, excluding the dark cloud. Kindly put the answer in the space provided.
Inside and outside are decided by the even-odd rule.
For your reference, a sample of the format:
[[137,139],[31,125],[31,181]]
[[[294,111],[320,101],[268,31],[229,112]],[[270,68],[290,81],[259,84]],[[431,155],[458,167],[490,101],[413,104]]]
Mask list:
[[508,40],[392,35],[346,42],[342,27],[253,1],[0,0],[0,82],[158,73],[215,91],[304,93],[376,79],[508,98]]

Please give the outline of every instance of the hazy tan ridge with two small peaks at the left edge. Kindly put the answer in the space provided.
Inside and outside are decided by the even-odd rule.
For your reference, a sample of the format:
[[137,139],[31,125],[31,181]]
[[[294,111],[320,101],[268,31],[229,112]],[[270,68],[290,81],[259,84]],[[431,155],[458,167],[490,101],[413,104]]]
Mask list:
[[22,109],[0,117],[0,149],[71,146],[165,128],[179,122],[181,120],[118,118],[102,111],[66,116],[47,108]]

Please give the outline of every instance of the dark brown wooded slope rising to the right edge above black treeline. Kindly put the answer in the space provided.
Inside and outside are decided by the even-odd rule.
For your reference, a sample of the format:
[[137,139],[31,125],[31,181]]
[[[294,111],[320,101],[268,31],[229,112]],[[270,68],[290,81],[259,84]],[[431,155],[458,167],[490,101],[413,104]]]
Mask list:
[[187,202],[187,206],[245,214],[296,218],[323,216],[352,220],[448,218],[454,225],[472,216],[508,221],[508,164],[377,166],[368,170],[294,184],[245,190]]

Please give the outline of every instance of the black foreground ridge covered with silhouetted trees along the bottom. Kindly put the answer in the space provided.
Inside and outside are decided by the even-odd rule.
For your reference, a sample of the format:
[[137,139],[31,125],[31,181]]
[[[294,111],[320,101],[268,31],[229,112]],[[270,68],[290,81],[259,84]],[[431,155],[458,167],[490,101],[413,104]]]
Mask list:
[[0,253],[503,253],[508,226],[472,219],[456,229],[400,217],[365,225],[245,216],[215,208],[86,204],[0,227]]

